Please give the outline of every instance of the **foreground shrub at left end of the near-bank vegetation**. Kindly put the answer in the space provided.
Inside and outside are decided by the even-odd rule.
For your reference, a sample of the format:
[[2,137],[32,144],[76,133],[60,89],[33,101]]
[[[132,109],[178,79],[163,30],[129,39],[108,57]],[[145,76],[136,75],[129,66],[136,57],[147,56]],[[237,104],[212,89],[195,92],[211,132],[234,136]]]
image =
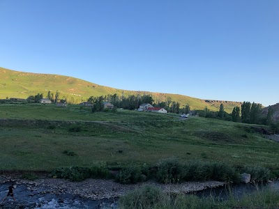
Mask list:
[[121,196],[119,199],[119,208],[153,208],[153,206],[160,204],[161,196],[163,195],[160,189],[146,185],[141,189]]

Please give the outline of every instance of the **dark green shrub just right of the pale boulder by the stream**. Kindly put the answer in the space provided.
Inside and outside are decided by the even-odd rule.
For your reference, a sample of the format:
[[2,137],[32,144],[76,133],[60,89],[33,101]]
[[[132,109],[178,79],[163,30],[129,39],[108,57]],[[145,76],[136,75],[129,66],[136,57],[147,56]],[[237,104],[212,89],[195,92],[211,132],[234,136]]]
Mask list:
[[246,165],[243,168],[243,171],[246,173],[251,174],[251,180],[255,182],[266,182],[271,177],[271,173],[269,169],[266,169],[264,167],[261,167],[259,165],[257,166],[248,166]]

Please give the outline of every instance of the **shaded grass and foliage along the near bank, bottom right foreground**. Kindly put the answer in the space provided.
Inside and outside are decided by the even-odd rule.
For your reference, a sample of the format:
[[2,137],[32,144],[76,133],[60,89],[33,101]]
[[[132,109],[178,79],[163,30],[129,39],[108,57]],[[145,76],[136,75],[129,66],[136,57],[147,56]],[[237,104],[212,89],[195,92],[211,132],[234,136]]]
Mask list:
[[142,187],[119,199],[120,209],[275,209],[278,208],[279,193],[275,189],[266,188],[259,192],[234,196],[229,199],[220,196],[199,198],[191,194],[167,194],[156,187]]

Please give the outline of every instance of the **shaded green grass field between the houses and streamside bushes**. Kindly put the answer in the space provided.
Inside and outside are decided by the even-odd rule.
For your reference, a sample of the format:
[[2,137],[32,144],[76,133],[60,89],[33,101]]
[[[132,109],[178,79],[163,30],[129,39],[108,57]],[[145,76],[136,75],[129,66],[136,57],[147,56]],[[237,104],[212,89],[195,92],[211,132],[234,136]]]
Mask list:
[[[167,157],[279,168],[279,144],[259,126],[175,114],[54,104],[0,105],[0,170],[50,171],[95,162],[154,165]],[[65,151],[75,153],[66,155]]]

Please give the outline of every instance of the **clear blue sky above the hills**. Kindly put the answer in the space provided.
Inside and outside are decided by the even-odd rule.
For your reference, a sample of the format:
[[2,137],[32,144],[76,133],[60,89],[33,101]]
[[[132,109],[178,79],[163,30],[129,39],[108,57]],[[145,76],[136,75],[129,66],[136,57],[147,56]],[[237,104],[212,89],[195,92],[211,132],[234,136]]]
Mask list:
[[0,29],[3,68],[279,102],[278,0],[0,0]]

